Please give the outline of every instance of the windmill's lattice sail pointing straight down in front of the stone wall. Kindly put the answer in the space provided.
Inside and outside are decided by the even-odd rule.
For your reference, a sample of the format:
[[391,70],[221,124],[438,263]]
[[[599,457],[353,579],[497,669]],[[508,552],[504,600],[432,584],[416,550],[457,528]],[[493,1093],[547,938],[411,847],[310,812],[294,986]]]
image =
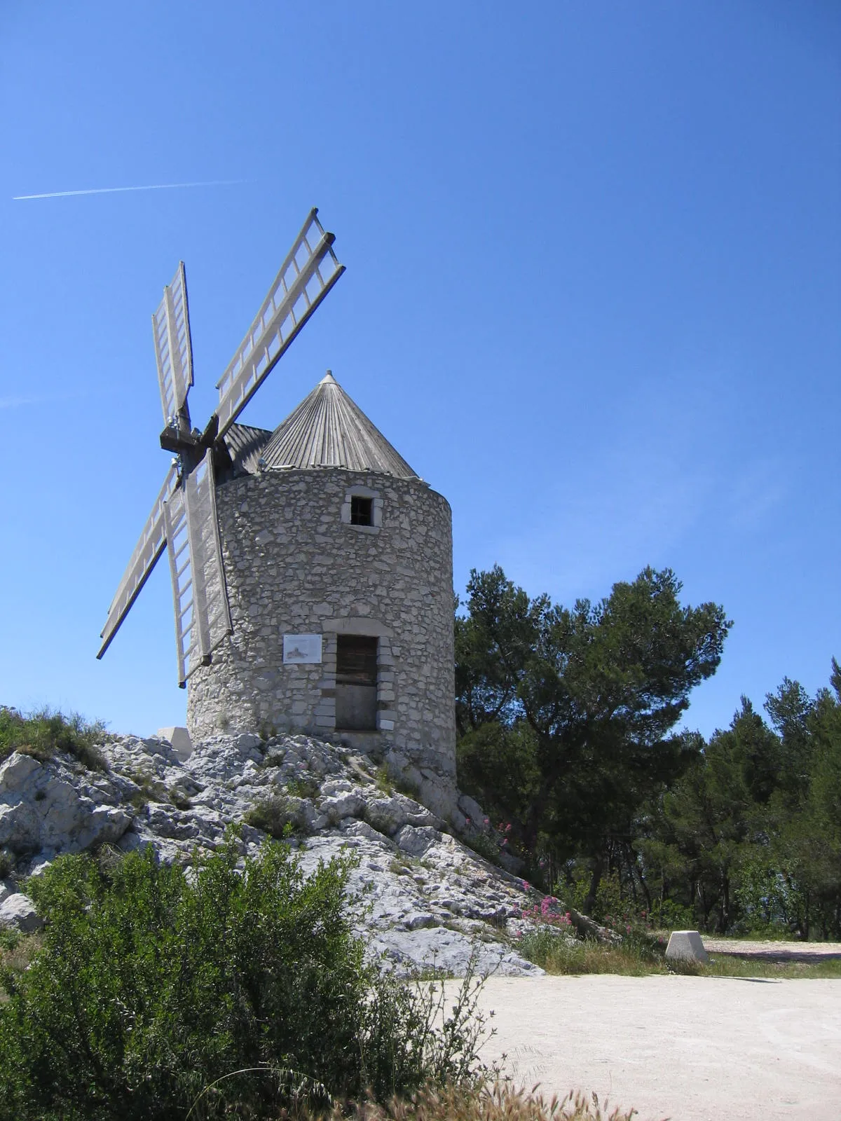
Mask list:
[[213,458],[205,455],[165,507],[178,684],[231,633],[216,520]]

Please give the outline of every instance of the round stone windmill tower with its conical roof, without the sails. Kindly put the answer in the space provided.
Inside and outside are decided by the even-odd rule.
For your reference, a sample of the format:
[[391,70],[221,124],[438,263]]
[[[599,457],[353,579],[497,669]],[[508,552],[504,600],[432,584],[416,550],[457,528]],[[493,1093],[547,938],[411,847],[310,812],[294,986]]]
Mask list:
[[446,499],[330,373],[274,433],[234,425],[225,444],[216,510],[234,633],[187,683],[191,735],[350,740],[444,808],[455,777]]

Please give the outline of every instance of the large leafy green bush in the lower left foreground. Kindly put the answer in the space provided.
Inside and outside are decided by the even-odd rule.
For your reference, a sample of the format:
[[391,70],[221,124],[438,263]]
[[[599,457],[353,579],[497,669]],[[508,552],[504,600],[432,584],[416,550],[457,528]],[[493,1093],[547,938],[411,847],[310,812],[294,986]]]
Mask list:
[[443,992],[366,964],[350,867],[305,879],[288,846],[242,862],[233,837],[190,874],[148,849],[59,856],[28,886],[43,946],[2,974],[0,1119],[275,1118],[465,1078],[468,990],[444,1017]]

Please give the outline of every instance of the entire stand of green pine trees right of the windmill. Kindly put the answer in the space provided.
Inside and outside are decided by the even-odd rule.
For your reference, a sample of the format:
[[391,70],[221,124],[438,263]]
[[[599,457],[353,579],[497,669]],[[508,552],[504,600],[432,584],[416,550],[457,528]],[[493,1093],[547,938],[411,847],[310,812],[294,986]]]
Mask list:
[[730,621],[646,568],[599,603],[473,572],[455,618],[459,781],[527,873],[602,918],[841,937],[841,669],[676,731]]

